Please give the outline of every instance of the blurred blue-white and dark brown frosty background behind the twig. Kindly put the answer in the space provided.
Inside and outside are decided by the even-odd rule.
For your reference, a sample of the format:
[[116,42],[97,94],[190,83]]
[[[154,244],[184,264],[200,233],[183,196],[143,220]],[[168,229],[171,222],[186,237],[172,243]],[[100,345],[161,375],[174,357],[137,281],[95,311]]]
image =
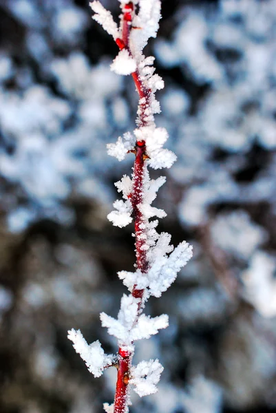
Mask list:
[[[105,146],[134,129],[138,103],[109,70],[116,53],[86,0],[0,0],[1,413],[99,413],[114,397],[116,370],[94,379],[67,330],[116,352],[99,313],[116,316],[116,272],[134,268],[132,227],[106,218],[134,158]],[[164,372],[131,412],[274,412],[276,1],[162,0],[145,53],[178,156],[159,231],[194,257],[146,308],[170,326],[135,361]]]

